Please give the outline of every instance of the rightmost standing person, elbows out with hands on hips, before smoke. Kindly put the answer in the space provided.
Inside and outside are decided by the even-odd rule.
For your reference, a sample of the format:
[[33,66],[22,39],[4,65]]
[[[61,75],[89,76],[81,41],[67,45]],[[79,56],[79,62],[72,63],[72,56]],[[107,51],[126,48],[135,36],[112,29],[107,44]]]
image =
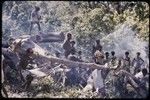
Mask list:
[[141,66],[144,64],[144,60],[140,57],[140,54],[140,52],[137,52],[137,57],[132,61],[132,65],[134,66],[134,75],[138,70],[141,70]]

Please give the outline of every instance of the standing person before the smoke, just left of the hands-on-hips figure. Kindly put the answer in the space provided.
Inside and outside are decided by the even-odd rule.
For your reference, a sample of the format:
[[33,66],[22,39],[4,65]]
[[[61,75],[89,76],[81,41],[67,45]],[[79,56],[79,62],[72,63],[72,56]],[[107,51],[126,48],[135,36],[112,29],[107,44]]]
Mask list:
[[130,72],[131,60],[129,57],[129,52],[125,52],[125,58],[123,59],[123,69]]

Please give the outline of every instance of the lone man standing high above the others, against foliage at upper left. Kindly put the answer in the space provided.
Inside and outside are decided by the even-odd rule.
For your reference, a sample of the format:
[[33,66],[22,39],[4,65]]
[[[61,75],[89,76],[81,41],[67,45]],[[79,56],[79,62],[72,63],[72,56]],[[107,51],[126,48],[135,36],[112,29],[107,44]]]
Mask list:
[[33,27],[34,24],[37,24],[38,25],[38,30],[41,31],[41,27],[40,27],[41,16],[39,15],[39,11],[40,11],[40,8],[35,6],[34,11],[32,11],[32,13],[31,13],[30,34],[31,34],[31,30],[32,30],[32,27]]

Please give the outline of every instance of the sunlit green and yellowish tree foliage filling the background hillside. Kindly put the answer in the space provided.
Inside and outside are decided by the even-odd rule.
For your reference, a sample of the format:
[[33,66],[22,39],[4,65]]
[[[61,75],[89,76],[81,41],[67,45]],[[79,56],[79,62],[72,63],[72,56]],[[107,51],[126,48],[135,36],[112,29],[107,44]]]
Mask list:
[[44,31],[71,31],[81,44],[87,38],[110,34],[116,25],[125,21],[137,30],[140,38],[149,39],[149,5],[146,2],[6,1],[3,3],[3,18],[10,17],[16,22],[14,27],[28,33],[29,16],[35,5],[41,7]]

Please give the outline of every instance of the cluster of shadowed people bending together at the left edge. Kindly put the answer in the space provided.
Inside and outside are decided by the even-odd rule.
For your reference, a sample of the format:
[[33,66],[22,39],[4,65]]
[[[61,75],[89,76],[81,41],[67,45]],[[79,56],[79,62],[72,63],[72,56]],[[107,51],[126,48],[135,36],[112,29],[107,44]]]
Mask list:
[[[18,80],[19,83],[22,83],[22,87],[27,90],[33,80],[31,74],[26,74],[23,76],[23,70],[27,69],[29,63],[33,61],[33,50],[28,48],[25,52],[20,51],[21,40],[16,43],[15,39],[10,38],[6,44],[2,44],[2,63],[1,63],[1,72],[2,72],[2,91],[6,97],[8,94],[5,89],[6,83],[12,83],[14,80]],[[15,76],[12,73],[15,73]],[[17,84],[19,84],[17,83]]]

